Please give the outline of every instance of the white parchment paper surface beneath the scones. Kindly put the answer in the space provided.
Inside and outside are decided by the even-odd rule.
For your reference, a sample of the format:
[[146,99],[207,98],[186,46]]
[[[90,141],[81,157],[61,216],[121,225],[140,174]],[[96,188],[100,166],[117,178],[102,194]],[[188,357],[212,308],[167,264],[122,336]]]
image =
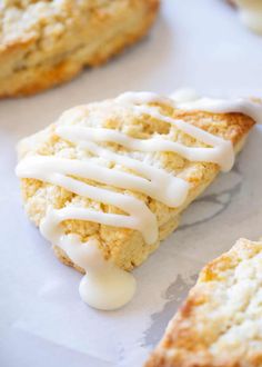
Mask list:
[[262,38],[220,0],[163,0],[150,38],[61,88],[0,102],[0,366],[141,366],[199,269],[241,236],[262,236],[262,129],[173,234],[134,271],[127,307],[81,302],[81,275],[61,265],[21,208],[14,145],[67,108],[125,90],[169,93],[190,86],[214,96],[262,97]]

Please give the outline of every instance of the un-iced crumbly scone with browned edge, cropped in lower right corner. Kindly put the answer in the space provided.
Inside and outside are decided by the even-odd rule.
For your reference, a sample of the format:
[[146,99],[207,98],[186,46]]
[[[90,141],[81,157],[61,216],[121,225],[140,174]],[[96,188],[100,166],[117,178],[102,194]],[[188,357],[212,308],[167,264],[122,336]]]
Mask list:
[[262,366],[262,242],[240,239],[200,272],[147,367]]

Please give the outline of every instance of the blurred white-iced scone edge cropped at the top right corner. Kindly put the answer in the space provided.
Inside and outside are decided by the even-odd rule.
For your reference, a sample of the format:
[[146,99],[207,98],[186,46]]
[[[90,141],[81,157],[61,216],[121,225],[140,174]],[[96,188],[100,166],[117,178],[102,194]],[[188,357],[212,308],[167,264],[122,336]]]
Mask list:
[[262,1],[234,0],[239,7],[241,21],[253,32],[262,34]]

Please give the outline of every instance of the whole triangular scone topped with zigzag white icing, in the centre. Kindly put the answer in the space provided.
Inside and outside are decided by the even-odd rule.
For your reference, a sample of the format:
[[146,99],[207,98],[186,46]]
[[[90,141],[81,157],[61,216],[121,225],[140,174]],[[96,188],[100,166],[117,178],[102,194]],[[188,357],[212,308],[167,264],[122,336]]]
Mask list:
[[115,268],[132,270],[231,169],[261,117],[249,100],[178,103],[149,92],[73,108],[19,146],[26,211],[67,265],[88,271],[95,261],[71,249],[91,241]]

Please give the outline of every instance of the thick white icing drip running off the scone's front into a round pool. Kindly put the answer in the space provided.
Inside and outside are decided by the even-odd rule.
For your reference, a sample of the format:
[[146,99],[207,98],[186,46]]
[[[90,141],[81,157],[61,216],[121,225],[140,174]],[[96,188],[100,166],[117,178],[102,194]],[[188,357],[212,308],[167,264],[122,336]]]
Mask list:
[[50,209],[42,220],[40,231],[46,238],[63,249],[69,258],[87,271],[82,278],[79,292],[91,307],[101,310],[113,310],[129,302],[135,291],[135,279],[132,274],[115,267],[103,259],[94,239],[81,242],[75,235],[64,235],[60,226],[67,218],[64,209]]

